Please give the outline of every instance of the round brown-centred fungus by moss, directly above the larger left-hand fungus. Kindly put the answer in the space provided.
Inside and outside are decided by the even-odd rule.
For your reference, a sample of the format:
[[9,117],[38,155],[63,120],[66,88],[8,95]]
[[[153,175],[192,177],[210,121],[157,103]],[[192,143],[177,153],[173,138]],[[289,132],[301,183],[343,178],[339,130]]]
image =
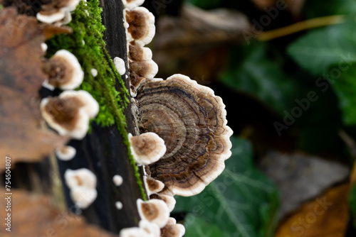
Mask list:
[[43,72],[48,75],[47,87],[75,89],[83,82],[84,72],[77,57],[67,50],[58,50],[50,60],[43,62]]

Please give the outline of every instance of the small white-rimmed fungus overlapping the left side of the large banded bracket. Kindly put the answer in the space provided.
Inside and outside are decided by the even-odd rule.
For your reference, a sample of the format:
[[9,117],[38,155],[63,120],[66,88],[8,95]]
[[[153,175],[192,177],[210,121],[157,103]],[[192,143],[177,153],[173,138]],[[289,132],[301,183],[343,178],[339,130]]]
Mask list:
[[150,165],[166,152],[164,140],[155,133],[142,133],[140,136],[129,133],[129,140],[132,155],[139,165]]

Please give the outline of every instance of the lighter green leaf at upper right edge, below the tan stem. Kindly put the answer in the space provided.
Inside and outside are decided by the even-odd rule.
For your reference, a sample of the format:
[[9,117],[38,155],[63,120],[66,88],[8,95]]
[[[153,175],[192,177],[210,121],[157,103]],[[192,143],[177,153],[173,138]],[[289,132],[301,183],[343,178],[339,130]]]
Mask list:
[[339,62],[356,61],[355,21],[310,31],[288,46],[295,62],[313,75],[323,75]]

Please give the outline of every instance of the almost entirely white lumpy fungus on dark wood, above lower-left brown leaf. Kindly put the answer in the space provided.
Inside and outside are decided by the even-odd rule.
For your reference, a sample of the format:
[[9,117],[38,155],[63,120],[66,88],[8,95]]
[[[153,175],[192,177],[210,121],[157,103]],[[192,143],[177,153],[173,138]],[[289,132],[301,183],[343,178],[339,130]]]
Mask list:
[[87,208],[92,204],[98,192],[96,191],[96,177],[88,169],[66,170],[64,179],[70,189],[70,197],[81,209]]

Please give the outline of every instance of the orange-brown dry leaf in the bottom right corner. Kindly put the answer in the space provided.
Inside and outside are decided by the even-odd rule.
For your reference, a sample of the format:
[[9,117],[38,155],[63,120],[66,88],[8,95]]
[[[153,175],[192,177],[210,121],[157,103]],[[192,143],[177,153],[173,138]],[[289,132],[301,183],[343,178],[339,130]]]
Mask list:
[[328,190],[304,204],[278,227],[275,237],[343,237],[349,218],[347,195],[350,184]]

